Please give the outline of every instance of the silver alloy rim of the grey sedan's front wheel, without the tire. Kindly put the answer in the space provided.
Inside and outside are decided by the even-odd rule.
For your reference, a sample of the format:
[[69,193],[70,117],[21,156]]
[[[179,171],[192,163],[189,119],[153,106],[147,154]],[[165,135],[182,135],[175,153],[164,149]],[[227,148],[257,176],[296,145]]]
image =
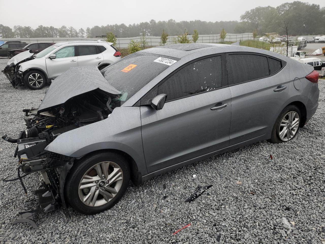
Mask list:
[[89,207],[102,206],[111,201],[123,183],[123,171],[118,164],[100,162],[88,169],[79,183],[79,198]]

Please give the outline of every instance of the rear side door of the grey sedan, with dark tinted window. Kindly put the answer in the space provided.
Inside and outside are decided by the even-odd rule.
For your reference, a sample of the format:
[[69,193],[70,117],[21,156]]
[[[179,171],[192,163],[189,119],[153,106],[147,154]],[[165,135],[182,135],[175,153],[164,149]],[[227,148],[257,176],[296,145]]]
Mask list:
[[254,53],[226,54],[232,95],[230,143],[270,133],[278,110],[289,98],[284,61]]

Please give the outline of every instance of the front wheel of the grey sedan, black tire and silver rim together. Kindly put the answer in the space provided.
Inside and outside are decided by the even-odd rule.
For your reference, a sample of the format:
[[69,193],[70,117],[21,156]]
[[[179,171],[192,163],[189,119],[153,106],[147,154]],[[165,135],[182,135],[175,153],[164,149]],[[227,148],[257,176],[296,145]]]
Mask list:
[[[108,174],[100,179],[98,170],[103,176],[104,167]],[[123,197],[129,181],[130,168],[125,158],[112,152],[100,152],[72,167],[64,187],[65,199],[79,213],[97,214],[110,209]]]

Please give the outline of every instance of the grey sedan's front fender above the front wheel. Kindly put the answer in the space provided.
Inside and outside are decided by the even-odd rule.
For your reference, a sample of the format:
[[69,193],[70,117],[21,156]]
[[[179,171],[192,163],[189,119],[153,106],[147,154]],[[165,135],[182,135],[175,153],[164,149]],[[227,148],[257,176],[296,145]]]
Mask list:
[[103,149],[127,153],[134,159],[141,174],[147,174],[139,107],[117,107],[107,119],[65,132],[45,148],[74,158]]

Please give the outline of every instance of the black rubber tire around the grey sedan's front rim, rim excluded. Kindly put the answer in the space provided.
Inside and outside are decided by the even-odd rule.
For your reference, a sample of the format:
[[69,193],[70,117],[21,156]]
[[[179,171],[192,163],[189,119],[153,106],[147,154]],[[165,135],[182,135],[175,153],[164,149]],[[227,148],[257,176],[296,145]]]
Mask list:
[[[111,161],[117,164],[123,172],[123,183],[115,195],[109,202],[98,206],[91,207],[87,206],[80,200],[79,197],[79,183],[81,182],[84,174],[87,170],[91,169],[93,166],[100,162]],[[117,153],[113,152],[100,152],[96,154],[92,154],[77,162],[76,165],[72,167],[67,176],[65,187],[64,187],[64,195],[67,199],[69,205],[79,213],[82,214],[97,214],[99,212],[105,211],[113,207],[124,195],[128,184],[130,181],[130,168],[129,164],[125,160],[125,158]]]

